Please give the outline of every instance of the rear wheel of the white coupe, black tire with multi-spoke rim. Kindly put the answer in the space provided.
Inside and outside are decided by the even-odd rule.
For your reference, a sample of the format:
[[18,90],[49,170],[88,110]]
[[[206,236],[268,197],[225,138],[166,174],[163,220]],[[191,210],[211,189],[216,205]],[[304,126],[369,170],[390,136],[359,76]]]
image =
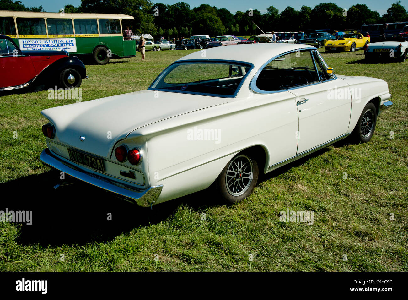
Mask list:
[[[237,163],[239,167],[244,168],[239,169],[239,167],[236,167],[234,169],[233,163]],[[240,163],[242,164],[240,165]],[[230,170],[228,171],[228,169]],[[251,169],[251,171],[248,171],[249,169]],[[252,172],[252,178],[249,172]],[[244,176],[247,174],[248,176]],[[215,189],[227,203],[233,204],[244,200],[252,193],[258,181],[258,176],[259,169],[256,160],[252,159],[246,153],[239,153],[226,164],[217,177],[215,180]],[[231,182],[229,187],[227,186],[227,182]]]

